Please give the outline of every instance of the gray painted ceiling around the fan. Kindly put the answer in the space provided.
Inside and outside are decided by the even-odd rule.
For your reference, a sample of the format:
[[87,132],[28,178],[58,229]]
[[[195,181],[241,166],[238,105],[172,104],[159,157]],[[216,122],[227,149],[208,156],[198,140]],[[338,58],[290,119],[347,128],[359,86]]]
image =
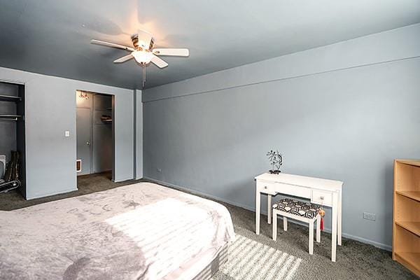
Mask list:
[[113,64],[125,50],[90,39],[130,45],[142,28],[190,49],[147,66],[153,87],[418,22],[419,0],[0,0],[0,66],[141,88],[134,60]]

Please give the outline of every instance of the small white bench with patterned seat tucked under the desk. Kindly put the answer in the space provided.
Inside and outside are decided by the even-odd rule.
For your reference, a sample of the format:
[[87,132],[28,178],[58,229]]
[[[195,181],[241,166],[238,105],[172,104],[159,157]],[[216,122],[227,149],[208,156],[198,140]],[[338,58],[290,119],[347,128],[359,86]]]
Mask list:
[[287,231],[287,219],[293,218],[309,224],[309,255],[314,254],[314,222],[316,222],[316,242],[321,242],[321,215],[318,204],[285,198],[273,204],[273,240],[277,239],[277,215],[283,216],[283,230]]

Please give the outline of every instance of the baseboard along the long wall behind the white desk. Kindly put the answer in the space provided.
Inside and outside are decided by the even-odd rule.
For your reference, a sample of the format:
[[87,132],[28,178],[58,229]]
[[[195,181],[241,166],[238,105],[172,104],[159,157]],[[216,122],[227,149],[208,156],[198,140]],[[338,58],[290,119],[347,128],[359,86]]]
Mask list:
[[[233,202],[233,201],[230,201],[230,200],[225,200],[225,199],[223,199],[221,197],[216,197],[214,195],[209,195],[207,193],[202,193],[199,190],[194,190],[194,189],[187,188],[187,187],[177,186],[177,185],[174,185],[173,183],[168,183],[168,182],[165,182],[165,181],[160,181],[160,180],[153,179],[153,178],[150,178],[150,177],[147,177],[147,176],[144,176],[143,179],[146,179],[148,181],[152,181],[152,182],[158,183],[160,185],[164,185],[164,186],[168,186],[168,187],[171,187],[171,188],[175,188],[175,189],[178,189],[178,190],[186,190],[187,192],[193,193],[195,195],[202,195],[203,197],[209,197],[209,198],[214,199],[214,200],[218,200],[218,201],[221,201],[221,202],[232,204],[234,206],[241,207],[241,208],[244,208],[246,210],[255,212],[255,209],[253,207],[249,207],[246,204],[241,204],[241,203],[238,203],[238,202]],[[267,211],[265,211],[264,209],[262,209],[261,210],[261,214],[264,214],[265,216],[267,216]],[[299,225],[308,226],[307,224],[300,223],[299,221],[293,221],[293,220],[289,220],[289,221],[291,223],[297,223]],[[330,228],[324,228],[324,231],[325,232],[328,232],[328,233],[331,233],[331,229]],[[373,245],[373,246],[375,246],[377,248],[381,248],[381,249],[384,249],[386,251],[392,251],[392,246],[389,246],[389,245],[386,245],[386,244],[383,244],[383,243],[379,243],[377,241],[373,241],[373,240],[366,239],[366,238],[363,238],[363,237],[358,237],[356,235],[349,235],[348,233],[345,233],[345,232],[342,233],[342,236],[345,237],[345,238],[348,238],[348,239],[353,239],[353,240],[356,240],[356,241],[360,241],[360,242],[365,243],[365,244]]]

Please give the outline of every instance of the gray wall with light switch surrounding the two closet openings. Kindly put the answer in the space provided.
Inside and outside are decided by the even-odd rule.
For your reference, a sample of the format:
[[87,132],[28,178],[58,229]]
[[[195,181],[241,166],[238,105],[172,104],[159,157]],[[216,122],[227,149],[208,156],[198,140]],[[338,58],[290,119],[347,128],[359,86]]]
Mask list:
[[115,179],[133,178],[132,90],[1,67],[0,80],[25,83],[27,199],[76,190],[76,90],[115,95]]

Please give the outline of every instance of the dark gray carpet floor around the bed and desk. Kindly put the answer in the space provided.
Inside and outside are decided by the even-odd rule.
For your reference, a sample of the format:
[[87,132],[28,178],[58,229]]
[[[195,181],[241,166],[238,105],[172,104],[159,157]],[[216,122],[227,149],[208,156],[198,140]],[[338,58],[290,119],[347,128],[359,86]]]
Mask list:
[[[111,174],[78,177],[78,191],[24,200],[17,192],[0,195],[0,210],[12,210],[34,204],[108,190],[138,181],[111,182]],[[391,253],[371,245],[343,239],[337,247],[337,262],[330,261],[330,235],[322,232],[321,243],[314,242],[314,255],[307,253],[308,232],[301,225],[289,223],[287,232],[281,229],[273,241],[272,228],[261,218],[261,234],[255,235],[255,214],[246,209],[228,207],[237,233],[230,246],[230,260],[213,279],[418,279],[409,270],[394,262]]]

